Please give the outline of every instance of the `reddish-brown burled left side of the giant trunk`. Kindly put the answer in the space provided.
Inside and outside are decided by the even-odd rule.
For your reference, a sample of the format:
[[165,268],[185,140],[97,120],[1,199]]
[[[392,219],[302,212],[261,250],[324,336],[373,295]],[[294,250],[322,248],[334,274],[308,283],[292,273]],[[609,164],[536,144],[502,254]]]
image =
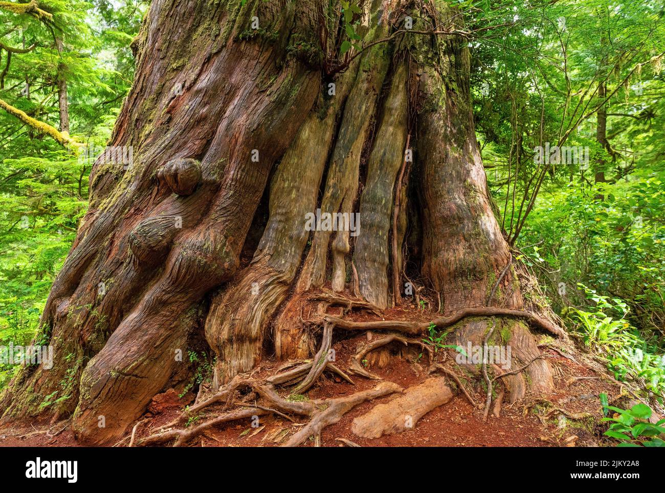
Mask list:
[[[133,148],[134,162],[125,173],[95,163],[90,209],[42,319],[56,353],[74,356],[80,388],[55,412],[78,400],[80,437],[126,429],[175,373],[203,294],[233,276],[269,171],[319,87],[319,74],[286,52],[288,33],[311,32],[304,4],[152,3],[112,138]],[[251,13],[278,39],[241,40]],[[200,163],[200,183],[180,188],[198,173],[166,165],[178,158]],[[31,370],[15,387],[61,393],[61,371]],[[13,399],[5,416],[39,413],[29,397]]]

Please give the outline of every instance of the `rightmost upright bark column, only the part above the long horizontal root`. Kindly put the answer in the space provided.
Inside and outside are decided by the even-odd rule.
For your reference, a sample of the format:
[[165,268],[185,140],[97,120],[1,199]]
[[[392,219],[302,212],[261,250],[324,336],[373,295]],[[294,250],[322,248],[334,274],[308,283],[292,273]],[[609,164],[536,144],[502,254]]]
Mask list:
[[[446,72],[468,71],[466,48],[451,49]],[[442,297],[442,311],[487,304],[510,253],[489,204],[487,180],[473,132],[466,77],[442,80],[424,67],[423,110],[418,116],[418,162],[422,173],[422,274]],[[509,270],[499,296],[513,282]],[[506,308],[521,308],[516,286]],[[503,302],[494,298],[491,304]]]

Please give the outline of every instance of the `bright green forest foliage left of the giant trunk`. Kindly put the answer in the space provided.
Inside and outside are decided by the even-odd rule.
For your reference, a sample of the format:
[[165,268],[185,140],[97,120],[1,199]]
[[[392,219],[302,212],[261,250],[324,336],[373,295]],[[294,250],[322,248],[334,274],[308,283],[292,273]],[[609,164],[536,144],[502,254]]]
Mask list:
[[[70,134],[89,148],[110,138],[134,74],[130,43],[146,3],[49,0],[44,23],[0,11],[0,99],[60,126],[58,80],[66,82]],[[56,38],[63,40],[59,50]],[[49,289],[88,205],[93,159],[63,149],[0,110],[0,345],[29,344]],[[43,341],[42,344],[46,342]],[[0,365],[0,389],[17,367]],[[45,399],[48,402],[49,399]]]

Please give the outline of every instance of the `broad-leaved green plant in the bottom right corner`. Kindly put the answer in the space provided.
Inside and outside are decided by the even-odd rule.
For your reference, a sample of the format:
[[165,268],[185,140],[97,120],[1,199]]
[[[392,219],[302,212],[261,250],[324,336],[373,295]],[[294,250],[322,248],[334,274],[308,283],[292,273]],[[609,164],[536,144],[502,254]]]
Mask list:
[[628,410],[613,406],[608,409],[617,414],[616,417],[601,420],[612,421],[604,435],[620,441],[617,446],[665,446],[665,441],[658,438],[661,433],[665,433],[665,419],[656,424],[649,423],[652,411],[648,405],[636,404]]

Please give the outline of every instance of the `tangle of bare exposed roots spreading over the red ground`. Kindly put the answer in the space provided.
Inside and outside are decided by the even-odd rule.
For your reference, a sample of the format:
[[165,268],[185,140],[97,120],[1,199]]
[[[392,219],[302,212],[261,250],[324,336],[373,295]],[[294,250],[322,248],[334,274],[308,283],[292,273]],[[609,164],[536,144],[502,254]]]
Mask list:
[[[307,390],[311,389],[312,385],[314,385],[317,379],[319,379],[321,374],[326,370],[331,371],[332,373],[338,375],[339,377],[341,377],[345,381],[348,381],[349,383],[353,383],[350,377],[348,377],[348,375],[346,375],[344,371],[342,371],[332,363],[332,361],[334,360],[334,357],[331,357],[332,334],[335,328],[341,328],[344,330],[392,329],[392,330],[398,330],[399,332],[402,333],[416,335],[425,332],[427,328],[430,326],[430,324],[435,324],[439,328],[443,328],[446,326],[450,326],[458,322],[459,320],[462,320],[462,318],[466,316],[471,316],[471,315],[519,316],[519,317],[528,318],[532,322],[535,320],[535,324],[541,327],[544,327],[543,324],[547,324],[547,322],[544,322],[537,316],[529,314],[528,312],[523,312],[520,310],[504,310],[493,307],[463,310],[462,312],[458,312],[449,317],[436,318],[431,323],[394,321],[394,320],[378,321],[378,322],[351,322],[348,320],[344,320],[344,318],[342,318],[344,314],[346,314],[350,310],[357,308],[363,310],[370,310],[370,312],[374,312],[376,314],[380,313],[380,311],[378,310],[378,308],[376,308],[376,306],[370,303],[350,300],[339,294],[324,292],[323,294],[317,294],[310,299],[319,300],[323,302],[323,304],[319,305],[319,308],[317,309],[317,314],[318,314],[317,319],[323,320],[323,334],[321,336],[321,344],[319,346],[319,350],[317,351],[315,357],[311,361],[304,361],[302,363],[298,363],[297,361],[289,361],[285,365],[279,367],[275,375],[272,375],[270,377],[261,380],[255,379],[251,377],[251,375],[248,375],[247,373],[236,375],[235,377],[233,377],[233,379],[231,379],[231,381],[229,381],[229,383],[227,383],[227,385],[219,389],[219,391],[217,391],[214,395],[186,409],[176,419],[160,427],[160,429],[158,429],[156,433],[153,433],[152,435],[145,437],[144,439],[136,441],[136,444],[140,446],[146,446],[146,445],[173,442],[173,446],[182,446],[183,444],[188,443],[188,441],[192,440],[194,437],[201,435],[201,433],[204,433],[205,431],[211,429],[212,427],[221,425],[223,423],[228,423],[230,421],[236,421],[238,419],[247,419],[250,417],[258,417],[265,415],[279,415],[285,419],[293,421],[291,415],[300,415],[300,416],[309,417],[309,423],[307,423],[302,429],[299,429],[297,433],[295,433],[292,437],[290,437],[288,441],[284,444],[284,446],[297,446],[299,444],[304,443],[308,439],[310,439],[315,446],[319,446],[321,444],[321,431],[323,431],[325,427],[337,423],[344,415],[344,413],[348,412],[356,405],[364,401],[375,399],[376,397],[382,397],[390,393],[402,391],[401,387],[396,383],[382,382],[376,385],[376,387],[374,387],[373,389],[360,391],[352,395],[339,397],[336,399],[291,401],[289,399],[284,399],[283,397],[281,397],[279,393],[277,393],[275,385],[296,385],[293,388],[293,391],[291,391],[291,394],[304,393]],[[340,316],[331,316],[326,314],[327,308],[333,305],[342,306],[342,313],[340,314]],[[315,324],[316,321],[312,320],[311,323]],[[489,332],[486,334],[484,344],[487,344],[489,338],[491,337],[491,334],[493,333],[493,329],[494,328],[489,330]],[[387,334],[382,338],[370,341],[368,342],[368,344],[364,345],[351,358],[349,364],[349,371],[356,375],[362,375],[370,379],[380,379],[380,377],[373,375],[372,373],[364,369],[364,367],[362,366],[362,360],[368,353],[370,353],[370,351],[373,351],[378,347],[383,347],[392,342],[400,342],[404,345],[409,345],[409,344],[420,345],[420,347],[424,351],[428,352],[428,356],[430,358],[430,371],[440,370],[443,373],[446,373],[446,375],[452,377],[452,379],[454,379],[454,381],[456,381],[456,383],[458,384],[458,387],[460,387],[460,390],[466,396],[469,403],[471,403],[471,405],[474,408],[478,407],[478,404],[475,402],[473,397],[471,397],[471,394],[469,393],[469,391],[467,391],[466,387],[464,386],[460,378],[453,371],[444,367],[444,365],[441,365],[440,363],[435,363],[432,348],[429,345],[426,345],[422,341],[415,338],[406,338],[404,336],[400,336],[400,334]],[[520,369],[508,373],[503,373],[502,375],[498,375],[494,379],[489,379],[489,375],[487,375],[486,365],[485,363],[483,363],[483,377],[485,377],[485,381],[487,383],[487,401],[485,403],[485,413],[483,416],[483,420],[487,419],[487,413],[489,412],[493,381],[505,375],[518,373],[519,371],[525,369],[529,364],[533,363],[533,361],[535,361],[535,359],[538,359],[539,357],[542,357],[542,355],[532,359],[531,361],[529,361],[529,363],[527,363],[527,365],[524,365]],[[241,389],[251,390],[252,392],[249,393],[249,395],[247,395],[247,399],[245,399],[245,401],[253,399],[254,402],[242,402],[235,400],[234,396],[236,395],[236,392]],[[446,387],[446,389],[448,389],[448,387]],[[444,396],[445,398],[442,396],[438,396],[434,400],[437,399],[438,400],[443,399],[443,401],[450,400],[450,396],[448,396],[449,393],[450,391],[446,393],[446,396]],[[414,395],[409,397],[407,401],[417,401],[418,399],[420,399],[420,397],[418,397],[418,395]],[[182,421],[184,421],[185,419],[190,418],[196,415],[196,413],[205,409],[206,407],[209,407],[217,403],[224,404],[221,414],[215,417],[211,417],[210,419],[203,421],[203,423],[200,423],[199,425],[190,428],[184,428],[184,429],[177,428],[178,425],[180,425],[180,423],[182,423]],[[235,405],[237,406],[237,408],[229,410],[228,408],[231,405]],[[495,415],[497,415],[500,412],[500,407],[501,407],[501,401],[498,401],[497,404],[495,405],[495,410],[494,410]],[[138,423],[136,423],[134,429],[132,429],[130,446],[135,443],[136,430],[138,429],[141,423],[143,423],[143,421],[139,421]]]

